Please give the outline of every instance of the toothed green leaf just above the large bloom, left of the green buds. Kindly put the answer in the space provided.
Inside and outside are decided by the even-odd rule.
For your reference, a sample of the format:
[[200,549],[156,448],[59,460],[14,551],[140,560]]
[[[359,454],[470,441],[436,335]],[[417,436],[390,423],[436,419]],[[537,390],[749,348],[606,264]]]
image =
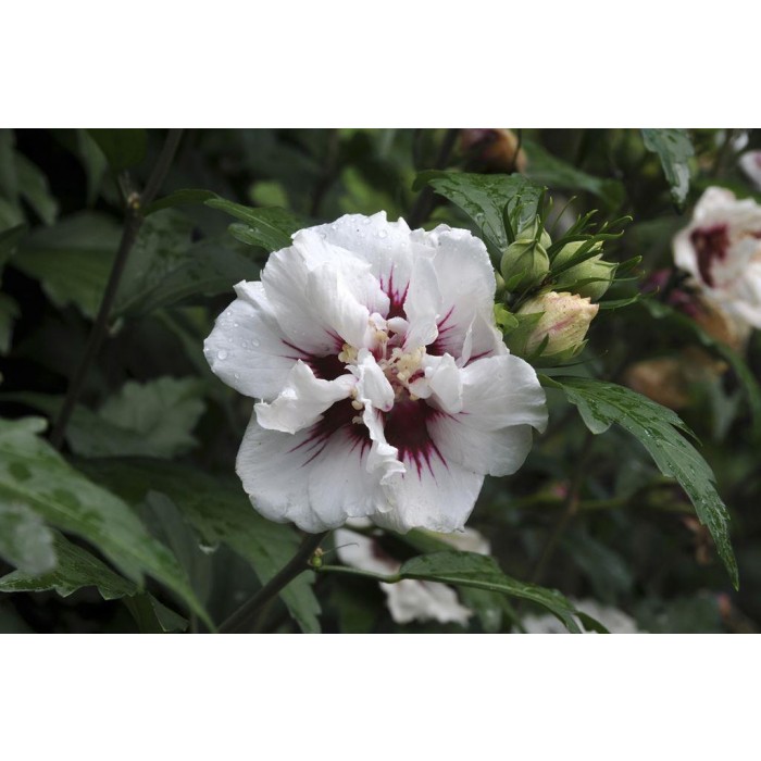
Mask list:
[[[460,207],[499,251],[511,241],[504,227],[504,212],[521,228],[538,213],[545,188],[520,174],[469,174],[465,172],[421,172],[413,185],[425,185]],[[517,216],[516,216],[517,215]]]

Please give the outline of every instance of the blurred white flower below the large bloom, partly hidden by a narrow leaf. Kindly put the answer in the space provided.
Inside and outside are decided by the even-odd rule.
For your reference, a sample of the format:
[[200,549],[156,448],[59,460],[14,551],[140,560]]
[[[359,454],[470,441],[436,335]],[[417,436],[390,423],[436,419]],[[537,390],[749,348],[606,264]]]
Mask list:
[[[370,524],[352,522],[351,525],[361,527]],[[489,542],[472,528],[437,536],[454,549],[481,554],[489,553]],[[338,558],[346,565],[384,575],[395,574],[401,567],[401,563],[384,552],[372,537],[349,528],[339,528],[335,533],[335,541]],[[454,589],[445,584],[404,578],[397,584],[382,583],[380,588],[386,594],[391,617],[398,624],[433,620],[442,624],[457,623],[464,626],[467,619],[473,615],[473,611],[460,603]]]

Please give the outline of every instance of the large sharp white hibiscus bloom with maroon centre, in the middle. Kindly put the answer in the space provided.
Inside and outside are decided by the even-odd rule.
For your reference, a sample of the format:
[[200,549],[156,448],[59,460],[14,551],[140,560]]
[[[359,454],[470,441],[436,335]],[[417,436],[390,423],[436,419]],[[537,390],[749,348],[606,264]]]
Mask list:
[[385,212],[302,229],[239,283],[204,353],[261,400],[237,459],[255,509],[314,533],[462,528],[485,474],[514,473],[547,424],[495,286],[478,238]]

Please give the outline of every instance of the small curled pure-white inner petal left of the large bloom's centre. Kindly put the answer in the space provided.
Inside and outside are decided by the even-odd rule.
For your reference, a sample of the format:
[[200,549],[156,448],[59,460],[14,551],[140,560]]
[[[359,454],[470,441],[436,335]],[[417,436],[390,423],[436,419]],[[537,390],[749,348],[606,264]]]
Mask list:
[[295,434],[316,423],[334,402],[346,399],[354,383],[351,375],[335,380],[317,378],[312,369],[299,360],[277,399],[254,406],[257,420],[263,428]]

